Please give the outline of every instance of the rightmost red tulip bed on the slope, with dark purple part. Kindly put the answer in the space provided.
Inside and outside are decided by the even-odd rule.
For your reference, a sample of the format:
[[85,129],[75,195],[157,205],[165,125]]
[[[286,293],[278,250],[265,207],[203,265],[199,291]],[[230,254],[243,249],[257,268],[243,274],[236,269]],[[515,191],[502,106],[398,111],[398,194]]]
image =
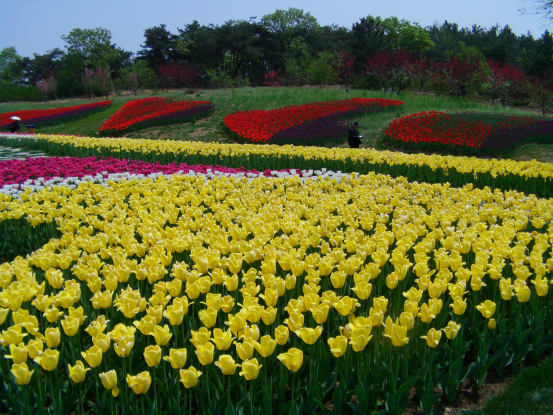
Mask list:
[[553,142],[553,121],[535,116],[421,112],[391,122],[384,143],[413,151],[508,154],[529,143]]

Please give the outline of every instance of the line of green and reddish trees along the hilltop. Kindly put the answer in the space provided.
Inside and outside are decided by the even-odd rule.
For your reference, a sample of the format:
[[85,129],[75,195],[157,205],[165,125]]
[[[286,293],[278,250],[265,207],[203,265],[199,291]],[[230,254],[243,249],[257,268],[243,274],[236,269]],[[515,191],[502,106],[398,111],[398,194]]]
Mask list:
[[[141,50],[123,50],[104,28],[73,29],[33,57],[0,51],[0,101],[160,88],[301,86],[433,91],[486,96],[502,105],[537,102],[553,90],[553,37],[506,25],[421,27],[367,16],[351,28],[322,26],[301,9],[222,25],[193,21],[147,28]],[[543,92],[542,91],[542,92]],[[545,92],[543,92],[545,94]],[[539,94],[538,94],[539,95]],[[545,94],[547,95],[547,94]]]

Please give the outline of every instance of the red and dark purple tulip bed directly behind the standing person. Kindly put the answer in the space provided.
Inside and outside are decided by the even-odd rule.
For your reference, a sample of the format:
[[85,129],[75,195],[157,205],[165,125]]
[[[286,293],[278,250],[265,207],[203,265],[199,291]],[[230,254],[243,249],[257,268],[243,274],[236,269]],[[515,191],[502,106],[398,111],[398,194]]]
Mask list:
[[313,102],[268,111],[233,112],[225,117],[224,125],[231,136],[243,142],[321,145],[343,141],[348,132],[348,118],[401,105],[402,101],[380,98]]

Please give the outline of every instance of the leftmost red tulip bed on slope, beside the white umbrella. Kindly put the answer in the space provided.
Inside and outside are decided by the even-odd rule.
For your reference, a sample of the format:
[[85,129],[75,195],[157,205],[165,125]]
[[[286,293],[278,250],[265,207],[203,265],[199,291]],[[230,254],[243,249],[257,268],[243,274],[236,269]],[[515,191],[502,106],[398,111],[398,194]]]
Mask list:
[[44,126],[60,121],[67,122],[71,119],[89,116],[96,111],[103,111],[112,103],[113,101],[110,100],[84,105],[74,105],[72,107],[5,112],[0,114],[0,131],[8,129],[8,126],[13,122],[13,120],[11,120],[13,116],[21,118],[21,122],[24,124]]

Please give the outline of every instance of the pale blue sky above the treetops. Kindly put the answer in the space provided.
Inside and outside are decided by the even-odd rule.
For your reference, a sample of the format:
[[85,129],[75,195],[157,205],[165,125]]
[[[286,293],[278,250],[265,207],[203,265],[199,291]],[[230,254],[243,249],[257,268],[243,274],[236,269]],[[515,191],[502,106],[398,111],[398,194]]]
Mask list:
[[[177,32],[192,20],[222,24],[226,20],[261,18],[276,9],[296,7],[310,12],[319,24],[351,28],[367,15],[407,19],[421,26],[444,20],[460,26],[508,24],[517,34],[540,37],[545,21],[521,15],[526,0],[1,0],[0,49],[14,46],[22,56],[63,48],[60,36],[73,28],[103,27],[112,42],[137,52],[144,30],[165,23]],[[551,27],[550,27],[551,29]]]

